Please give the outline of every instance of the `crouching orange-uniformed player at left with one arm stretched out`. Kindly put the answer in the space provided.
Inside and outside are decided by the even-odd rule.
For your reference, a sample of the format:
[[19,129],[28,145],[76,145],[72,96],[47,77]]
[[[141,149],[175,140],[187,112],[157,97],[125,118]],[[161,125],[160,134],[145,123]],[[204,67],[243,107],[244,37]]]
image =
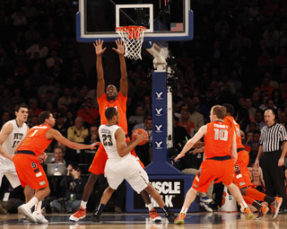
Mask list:
[[22,187],[29,185],[31,189],[36,190],[33,198],[27,204],[18,207],[18,211],[26,216],[29,222],[43,224],[48,223],[44,216],[41,214],[33,215],[30,212],[30,208],[46,198],[50,192],[47,176],[39,164],[38,157],[46,159],[47,155],[43,152],[54,138],[72,149],[95,149],[96,144],[78,144],[63,137],[59,131],[53,128],[55,119],[49,111],[43,111],[39,114],[39,123],[41,125],[30,128],[27,137],[22,138],[16,146],[13,163]]

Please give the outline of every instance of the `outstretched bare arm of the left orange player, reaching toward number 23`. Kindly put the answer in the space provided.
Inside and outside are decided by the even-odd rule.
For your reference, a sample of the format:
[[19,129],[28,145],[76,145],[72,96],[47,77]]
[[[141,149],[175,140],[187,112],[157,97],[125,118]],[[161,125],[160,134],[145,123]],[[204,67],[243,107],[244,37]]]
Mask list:
[[78,144],[75,142],[71,142],[68,139],[66,139],[65,137],[62,136],[62,134],[57,131],[57,129],[54,128],[50,128],[47,131],[46,134],[47,139],[53,139],[55,138],[58,142],[68,146],[71,149],[95,149],[95,143],[91,144],[91,145],[83,145],[83,144]]

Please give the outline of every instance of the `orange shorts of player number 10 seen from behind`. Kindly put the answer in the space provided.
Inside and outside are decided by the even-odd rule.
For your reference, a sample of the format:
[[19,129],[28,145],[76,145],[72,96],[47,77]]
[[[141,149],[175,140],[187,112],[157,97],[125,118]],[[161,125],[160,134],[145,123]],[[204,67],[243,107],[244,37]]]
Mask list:
[[233,159],[225,161],[205,160],[201,163],[196,173],[192,188],[199,192],[206,192],[212,181],[222,181],[225,185],[230,185],[233,178],[234,161]]

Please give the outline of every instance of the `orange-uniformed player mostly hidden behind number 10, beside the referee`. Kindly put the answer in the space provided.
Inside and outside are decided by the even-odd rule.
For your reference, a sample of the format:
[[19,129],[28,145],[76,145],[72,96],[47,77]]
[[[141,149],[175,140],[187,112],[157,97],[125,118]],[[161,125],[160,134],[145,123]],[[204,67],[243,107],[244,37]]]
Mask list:
[[[233,183],[239,187],[241,194],[245,201],[258,209],[257,219],[265,216],[269,210],[265,205],[261,205],[257,200],[266,201],[272,210],[272,218],[274,219],[278,216],[279,208],[283,202],[282,198],[269,197],[264,193],[253,188],[254,185],[250,179],[250,173],[248,170],[249,154],[244,150],[244,146],[241,143],[240,127],[239,124],[233,119],[234,108],[230,103],[225,103],[222,105],[226,109],[227,116],[223,119],[223,122],[234,129],[236,133],[236,145],[238,159],[235,163],[235,171],[233,177]],[[257,200],[256,200],[257,199]]]

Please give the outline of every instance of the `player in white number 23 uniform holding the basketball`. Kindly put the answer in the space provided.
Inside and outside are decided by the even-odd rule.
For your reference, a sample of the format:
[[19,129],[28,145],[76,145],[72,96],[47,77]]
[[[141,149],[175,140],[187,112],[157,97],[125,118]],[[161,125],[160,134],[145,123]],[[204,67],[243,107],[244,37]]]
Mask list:
[[[144,134],[138,135],[135,141],[126,143],[125,131],[118,127],[118,111],[116,108],[108,108],[105,111],[108,119],[107,125],[101,125],[99,128],[100,142],[104,146],[108,161],[105,167],[105,176],[107,177],[109,187],[104,191],[100,205],[95,213],[91,216],[91,221],[100,224],[100,216],[103,208],[109,201],[112,193],[117,189],[118,185],[126,179],[137,193],[146,190],[152,198],[161,207],[165,216],[171,221],[175,218],[174,214],[166,207],[159,192],[152,187],[147,173],[143,167],[136,161],[135,156],[130,154],[135,146],[142,142]],[[172,222],[172,221],[171,221]]]

